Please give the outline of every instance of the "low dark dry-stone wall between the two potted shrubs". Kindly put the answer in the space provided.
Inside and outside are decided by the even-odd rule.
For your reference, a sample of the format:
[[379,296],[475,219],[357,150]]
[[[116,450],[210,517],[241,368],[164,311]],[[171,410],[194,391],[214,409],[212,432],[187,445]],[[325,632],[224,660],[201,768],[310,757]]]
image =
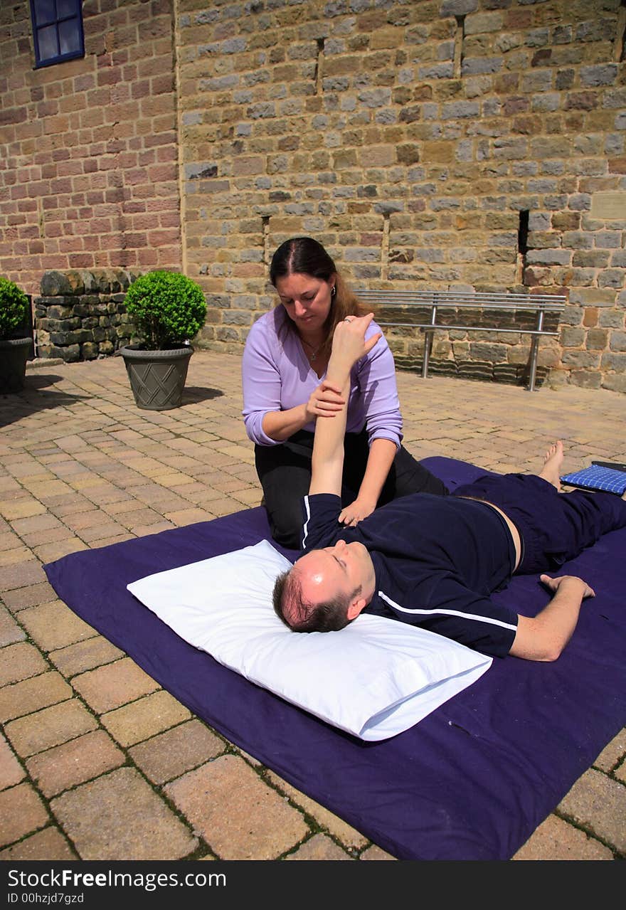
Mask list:
[[38,357],[94,360],[128,344],[132,324],[124,298],[135,278],[118,269],[45,272],[34,300]]

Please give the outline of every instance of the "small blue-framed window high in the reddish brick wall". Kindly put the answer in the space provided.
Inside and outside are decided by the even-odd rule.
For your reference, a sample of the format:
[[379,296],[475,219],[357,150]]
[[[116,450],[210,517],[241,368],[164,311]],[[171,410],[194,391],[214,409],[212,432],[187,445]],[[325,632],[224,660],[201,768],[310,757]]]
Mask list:
[[82,0],[30,0],[35,66],[85,56]]

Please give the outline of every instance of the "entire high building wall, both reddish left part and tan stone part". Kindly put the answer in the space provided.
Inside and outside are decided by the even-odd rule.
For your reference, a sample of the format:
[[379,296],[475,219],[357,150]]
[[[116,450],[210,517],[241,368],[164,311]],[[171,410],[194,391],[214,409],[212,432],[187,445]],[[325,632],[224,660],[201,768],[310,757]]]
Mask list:
[[[34,69],[28,0],[0,5],[0,270],[26,292],[183,270],[198,343],[240,351],[273,249],[308,234],[356,286],[565,293],[541,368],[626,391],[624,0],[83,12],[85,58]],[[419,361],[421,336],[390,342]],[[510,373],[514,347],[439,336],[434,367]]]

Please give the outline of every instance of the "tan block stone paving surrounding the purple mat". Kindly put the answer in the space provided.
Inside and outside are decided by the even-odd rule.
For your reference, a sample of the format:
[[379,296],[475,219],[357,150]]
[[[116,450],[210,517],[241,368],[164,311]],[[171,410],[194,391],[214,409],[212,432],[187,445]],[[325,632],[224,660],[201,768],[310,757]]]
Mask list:
[[[240,358],[197,351],[183,407],[119,358],[36,363],[0,397],[0,858],[393,860],[243,753],[56,598],[42,565],[258,505]],[[399,373],[405,443],[495,470],[626,460],[626,398]],[[626,730],[515,860],[626,858]]]

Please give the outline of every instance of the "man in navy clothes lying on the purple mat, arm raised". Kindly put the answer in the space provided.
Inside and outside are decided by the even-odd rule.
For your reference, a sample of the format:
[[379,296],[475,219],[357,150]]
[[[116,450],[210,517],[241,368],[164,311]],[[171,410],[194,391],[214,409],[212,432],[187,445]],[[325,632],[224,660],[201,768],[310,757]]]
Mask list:
[[585,581],[541,574],[553,597],[534,618],[490,595],[514,572],[558,570],[602,534],[624,527],[626,502],[613,493],[561,493],[557,441],[539,475],[485,475],[449,496],[412,494],[358,526],[340,525],[349,374],[380,337],[365,339],[372,315],[348,317],[335,330],[325,380],[333,401],[328,417],[317,420],[302,555],[276,582],[278,616],[295,632],[330,632],[368,612],[486,654],[556,660],[582,601],[595,596]]

